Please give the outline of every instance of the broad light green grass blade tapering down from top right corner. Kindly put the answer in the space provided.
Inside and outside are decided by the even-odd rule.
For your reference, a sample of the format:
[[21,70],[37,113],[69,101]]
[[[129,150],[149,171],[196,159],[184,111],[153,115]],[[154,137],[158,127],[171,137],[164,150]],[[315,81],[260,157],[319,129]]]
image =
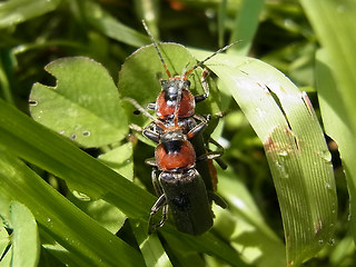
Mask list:
[[[333,65],[333,73],[338,82],[337,92],[347,110],[353,132],[356,132],[356,2],[354,0],[300,0],[308,19]],[[337,140],[336,140],[337,141]]]

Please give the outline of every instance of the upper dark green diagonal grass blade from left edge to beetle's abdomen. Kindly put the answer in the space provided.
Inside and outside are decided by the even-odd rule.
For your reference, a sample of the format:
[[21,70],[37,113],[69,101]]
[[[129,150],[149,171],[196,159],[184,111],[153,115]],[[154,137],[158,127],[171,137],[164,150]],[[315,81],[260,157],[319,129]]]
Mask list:
[[2,100],[0,113],[0,144],[11,152],[63,178],[78,191],[95,198],[110,198],[130,217],[140,217],[150,209],[152,196],[93,160],[63,137]]

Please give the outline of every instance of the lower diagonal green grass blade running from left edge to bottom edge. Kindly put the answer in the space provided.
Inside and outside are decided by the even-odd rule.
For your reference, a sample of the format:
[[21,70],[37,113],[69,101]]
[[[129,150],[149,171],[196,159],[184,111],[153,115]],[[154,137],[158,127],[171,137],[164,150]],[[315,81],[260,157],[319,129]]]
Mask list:
[[[0,154],[0,191],[9,199],[26,202],[40,229],[67,248],[78,266],[141,266],[142,259],[134,248],[100,227],[6,150]],[[17,219],[14,216],[19,215],[12,219]]]

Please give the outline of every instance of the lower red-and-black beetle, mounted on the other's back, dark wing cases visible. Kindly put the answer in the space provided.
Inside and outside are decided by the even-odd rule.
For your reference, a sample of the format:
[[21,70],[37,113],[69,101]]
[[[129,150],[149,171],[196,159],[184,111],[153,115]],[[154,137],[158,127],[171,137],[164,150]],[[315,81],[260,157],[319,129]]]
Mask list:
[[[185,134],[179,125],[178,109],[174,112],[174,122],[165,125],[134,99],[123,100],[131,102],[161,129],[161,131],[146,129],[146,136],[158,142],[155,158],[146,160],[152,166],[151,179],[156,194],[159,196],[149,216],[149,233],[154,233],[165,224],[168,208],[171,210],[178,230],[190,235],[206,233],[212,226],[211,201],[215,200],[217,205],[226,208],[225,201],[218,195],[212,190],[207,190],[205,181],[195,168],[197,158],[189,139],[201,134],[207,125],[198,123]],[[162,209],[162,217],[156,225],[154,216],[159,209]]]

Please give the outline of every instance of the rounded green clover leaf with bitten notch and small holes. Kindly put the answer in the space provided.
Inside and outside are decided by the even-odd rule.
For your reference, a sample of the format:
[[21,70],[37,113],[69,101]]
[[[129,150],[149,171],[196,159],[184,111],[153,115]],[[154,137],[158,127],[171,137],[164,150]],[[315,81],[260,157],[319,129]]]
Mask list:
[[101,65],[87,58],[63,58],[46,67],[56,87],[34,83],[30,111],[40,123],[83,147],[119,141],[128,125],[117,88]]

